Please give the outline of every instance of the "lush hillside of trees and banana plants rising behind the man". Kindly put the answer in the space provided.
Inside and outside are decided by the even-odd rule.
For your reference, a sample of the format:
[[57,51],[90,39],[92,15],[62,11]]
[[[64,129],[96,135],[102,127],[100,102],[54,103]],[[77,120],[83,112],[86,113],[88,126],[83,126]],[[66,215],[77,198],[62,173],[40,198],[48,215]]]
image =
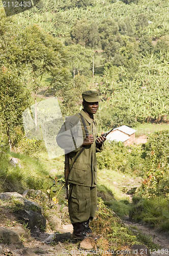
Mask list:
[[64,115],[79,111],[85,84],[101,93],[102,128],[166,122],[168,15],[163,13],[166,0],[42,0],[8,18],[2,10],[1,62],[18,70],[35,101],[43,76],[51,77],[48,90],[62,97]]

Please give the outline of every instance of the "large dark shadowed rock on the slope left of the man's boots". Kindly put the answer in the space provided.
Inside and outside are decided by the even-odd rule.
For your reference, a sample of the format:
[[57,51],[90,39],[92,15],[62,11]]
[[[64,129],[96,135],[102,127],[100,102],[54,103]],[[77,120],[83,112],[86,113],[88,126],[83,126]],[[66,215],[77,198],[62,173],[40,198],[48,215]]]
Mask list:
[[36,235],[40,233],[39,229],[44,229],[46,227],[46,219],[40,212],[19,209],[16,211],[16,215],[19,220],[25,224],[27,223],[27,227]]

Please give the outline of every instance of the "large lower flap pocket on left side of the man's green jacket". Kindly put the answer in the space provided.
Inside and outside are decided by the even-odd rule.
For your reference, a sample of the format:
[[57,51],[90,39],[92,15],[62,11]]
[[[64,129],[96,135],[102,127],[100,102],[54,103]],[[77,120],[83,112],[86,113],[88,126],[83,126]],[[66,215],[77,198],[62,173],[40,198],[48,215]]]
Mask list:
[[75,162],[70,171],[69,180],[83,184],[85,182],[87,169],[87,164]]

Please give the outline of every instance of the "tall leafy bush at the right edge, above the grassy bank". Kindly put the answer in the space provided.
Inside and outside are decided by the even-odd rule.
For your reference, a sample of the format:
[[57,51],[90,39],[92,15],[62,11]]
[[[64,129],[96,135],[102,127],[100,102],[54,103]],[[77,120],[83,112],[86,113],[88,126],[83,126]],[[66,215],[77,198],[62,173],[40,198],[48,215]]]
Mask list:
[[145,179],[139,193],[155,197],[169,193],[169,130],[157,131],[149,135],[142,154],[145,160]]

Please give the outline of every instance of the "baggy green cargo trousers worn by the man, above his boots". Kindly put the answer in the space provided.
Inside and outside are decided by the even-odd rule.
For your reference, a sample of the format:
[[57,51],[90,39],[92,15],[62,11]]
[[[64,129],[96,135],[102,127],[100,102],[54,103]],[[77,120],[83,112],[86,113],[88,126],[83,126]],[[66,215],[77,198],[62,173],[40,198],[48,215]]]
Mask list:
[[70,183],[68,208],[71,223],[93,220],[97,207],[97,187]]

